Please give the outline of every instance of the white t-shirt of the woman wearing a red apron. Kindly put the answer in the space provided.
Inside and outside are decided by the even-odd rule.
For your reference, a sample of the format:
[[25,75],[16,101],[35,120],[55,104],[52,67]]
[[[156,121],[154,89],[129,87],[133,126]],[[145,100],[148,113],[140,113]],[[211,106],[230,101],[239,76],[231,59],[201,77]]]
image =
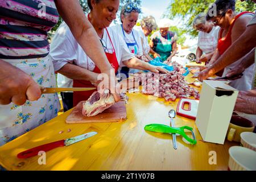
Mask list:
[[[112,28],[108,28],[108,32],[115,49],[115,55],[117,56],[118,63],[120,64],[122,61],[133,58],[134,54],[130,53],[121,36],[117,35]],[[105,52],[114,52],[106,30],[104,30],[101,42],[106,47]],[[57,29],[55,36],[53,37],[50,45],[49,59],[52,60],[55,71],[58,71],[67,63],[79,65],[80,67],[90,71],[93,71],[96,67],[96,64],[94,64],[90,57],[86,56],[82,47],[77,43],[65,22],[60,24],[60,27]],[[58,86],[72,86],[72,80],[67,77],[63,77],[63,75],[58,74]]]

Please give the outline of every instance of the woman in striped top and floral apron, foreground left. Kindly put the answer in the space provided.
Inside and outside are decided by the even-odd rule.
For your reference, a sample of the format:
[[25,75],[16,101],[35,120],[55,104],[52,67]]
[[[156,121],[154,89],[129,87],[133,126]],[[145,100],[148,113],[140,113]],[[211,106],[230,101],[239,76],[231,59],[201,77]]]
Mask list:
[[[6,0],[0,8],[1,146],[57,116],[57,94],[42,94],[39,86],[56,86],[47,32],[59,14],[101,71],[109,73],[112,67],[79,1]],[[93,46],[85,46],[89,43]]]

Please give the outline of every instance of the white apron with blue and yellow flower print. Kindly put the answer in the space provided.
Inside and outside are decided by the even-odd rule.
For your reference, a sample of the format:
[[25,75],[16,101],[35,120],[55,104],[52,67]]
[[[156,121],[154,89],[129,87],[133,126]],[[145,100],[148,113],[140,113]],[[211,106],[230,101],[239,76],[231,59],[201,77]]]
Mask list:
[[[48,56],[35,59],[3,60],[26,72],[40,86],[56,86],[53,65]],[[26,101],[22,106],[13,103],[0,105],[0,146],[56,117],[59,109],[60,102],[57,93],[42,94],[38,101]]]

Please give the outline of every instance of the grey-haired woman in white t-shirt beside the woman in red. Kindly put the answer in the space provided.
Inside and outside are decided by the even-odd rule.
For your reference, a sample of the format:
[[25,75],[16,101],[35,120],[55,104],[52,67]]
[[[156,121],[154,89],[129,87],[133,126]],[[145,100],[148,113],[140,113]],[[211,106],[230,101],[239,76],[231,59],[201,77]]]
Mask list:
[[[193,28],[199,31],[196,49],[196,63],[208,63],[218,44],[220,27],[213,26],[205,19],[206,14],[200,13],[193,20]],[[204,53],[204,55],[203,55]]]

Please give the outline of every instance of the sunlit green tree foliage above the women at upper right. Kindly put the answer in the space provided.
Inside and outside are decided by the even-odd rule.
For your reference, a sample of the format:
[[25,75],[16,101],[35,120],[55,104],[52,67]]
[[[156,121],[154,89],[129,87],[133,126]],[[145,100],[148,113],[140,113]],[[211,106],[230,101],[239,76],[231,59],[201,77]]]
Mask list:
[[[172,0],[167,15],[170,19],[182,19],[183,27],[182,30],[187,32],[192,37],[196,37],[198,32],[193,30],[192,22],[195,16],[199,13],[207,13],[209,6],[213,3],[212,0]],[[237,0],[236,11],[252,11],[254,12],[256,5],[253,1],[241,2]],[[183,32],[182,31],[182,32]]]

